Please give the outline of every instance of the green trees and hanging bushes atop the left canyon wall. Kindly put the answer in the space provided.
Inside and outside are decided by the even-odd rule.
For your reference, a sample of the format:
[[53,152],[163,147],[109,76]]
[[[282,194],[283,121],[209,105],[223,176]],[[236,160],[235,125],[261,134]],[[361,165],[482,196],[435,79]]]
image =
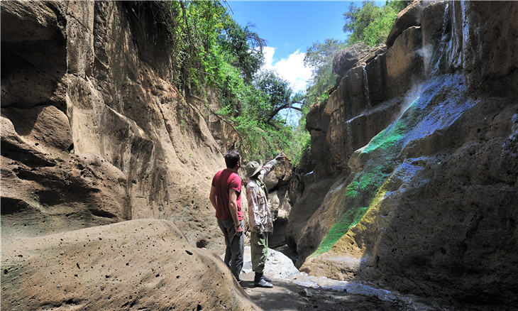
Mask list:
[[[233,20],[225,1],[128,1],[136,21],[145,14],[165,30],[171,45],[175,83],[185,97],[204,97],[214,87],[221,119],[236,129],[243,159],[270,158],[280,150],[300,158],[309,133],[288,126],[283,109],[302,110],[304,97],[293,94],[275,72],[260,72],[265,40]],[[150,15],[149,15],[150,14]],[[150,18],[151,17],[151,18]],[[184,124],[184,102],[178,106]],[[296,163],[294,163],[296,164]]]

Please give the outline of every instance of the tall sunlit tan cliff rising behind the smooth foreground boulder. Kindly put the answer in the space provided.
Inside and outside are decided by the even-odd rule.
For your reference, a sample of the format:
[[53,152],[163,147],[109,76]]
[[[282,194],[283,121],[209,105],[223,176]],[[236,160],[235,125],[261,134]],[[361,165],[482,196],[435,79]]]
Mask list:
[[167,32],[132,5],[2,4],[2,240],[155,218],[224,243],[205,103],[177,91]]

